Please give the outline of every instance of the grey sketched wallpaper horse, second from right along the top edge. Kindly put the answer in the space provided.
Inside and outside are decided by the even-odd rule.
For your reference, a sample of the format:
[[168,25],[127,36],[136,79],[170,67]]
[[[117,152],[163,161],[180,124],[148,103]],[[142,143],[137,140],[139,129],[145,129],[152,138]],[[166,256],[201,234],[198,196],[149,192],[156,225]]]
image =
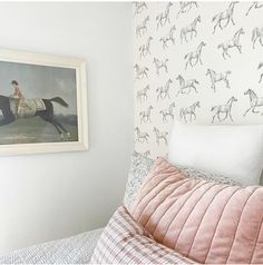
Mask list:
[[[225,11],[214,16],[214,18],[212,19],[212,21],[215,22],[213,35],[215,33],[215,30],[217,29],[217,27],[220,27],[221,29],[226,28],[230,21],[232,22],[232,24],[235,26],[233,13],[234,13],[234,8],[236,3],[238,2],[237,1],[231,2],[228,8]],[[222,26],[222,21],[226,21],[224,26]]]

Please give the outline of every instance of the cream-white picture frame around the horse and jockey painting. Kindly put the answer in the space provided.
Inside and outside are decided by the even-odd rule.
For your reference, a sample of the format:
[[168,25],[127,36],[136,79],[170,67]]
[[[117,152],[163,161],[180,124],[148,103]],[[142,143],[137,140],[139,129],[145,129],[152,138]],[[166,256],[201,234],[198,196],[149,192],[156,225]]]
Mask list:
[[[66,140],[52,139],[51,141],[49,141],[46,139],[45,141],[39,141],[33,139],[35,143],[22,143],[22,141],[18,143],[19,141],[19,137],[18,137],[16,138],[16,143],[4,144],[6,141],[4,141],[3,132],[1,135],[1,129],[4,126],[9,126],[10,128],[12,128],[11,126],[13,125],[11,125],[12,122],[10,122],[8,125],[0,126],[0,138],[2,137],[2,143],[0,144],[0,156],[80,151],[80,150],[88,149],[88,109],[87,109],[87,80],[86,80],[87,69],[86,69],[85,60],[70,58],[70,57],[43,55],[43,53],[37,53],[37,52],[25,52],[25,51],[18,51],[18,50],[0,49],[0,63],[2,63],[3,68],[7,63],[11,63],[11,65],[18,63],[16,66],[19,66],[19,67],[27,66],[29,68],[30,66],[32,66],[31,67],[32,71],[35,67],[43,67],[43,69],[58,68],[58,69],[62,69],[61,71],[64,71],[65,69],[65,72],[67,72],[67,69],[69,69],[70,72],[75,72],[76,75],[76,100],[77,100],[76,107],[75,107],[76,116],[77,116],[76,118],[77,119],[77,125],[76,125],[77,138],[76,139],[70,139],[70,136],[69,136],[69,139],[66,139]],[[0,71],[1,71],[1,66],[0,66]],[[0,84],[1,84],[1,77],[0,77]],[[10,85],[10,88],[11,88],[11,85]],[[10,95],[4,95],[4,96],[8,97]],[[56,92],[53,96],[56,96]],[[39,98],[41,98],[41,95],[39,95]],[[0,114],[2,112],[1,110],[2,108],[0,106]],[[2,119],[3,118],[6,117],[3,116],[3,112],[2,112]],[[37,120],[38,117],[35,116],[33,118]],[[25,119],[25,122],[26,120],[30,120],[30,118]],[[13,124],[14,122],[17,122],[17,119],[13,121]],[[6,127],[4,130],[8,130],[9,127]],[[14,131],[13,128],[10,131]],[[56,129],[53,134],[56,134]]]

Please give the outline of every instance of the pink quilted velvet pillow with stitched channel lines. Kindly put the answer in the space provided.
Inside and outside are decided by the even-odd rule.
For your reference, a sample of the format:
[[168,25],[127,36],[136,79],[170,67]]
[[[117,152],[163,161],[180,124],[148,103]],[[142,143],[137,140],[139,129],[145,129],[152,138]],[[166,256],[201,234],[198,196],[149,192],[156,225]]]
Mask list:
[[157,242],[198,263],[263,264],[263,187],[187,178],[159,158],[132,215]]

